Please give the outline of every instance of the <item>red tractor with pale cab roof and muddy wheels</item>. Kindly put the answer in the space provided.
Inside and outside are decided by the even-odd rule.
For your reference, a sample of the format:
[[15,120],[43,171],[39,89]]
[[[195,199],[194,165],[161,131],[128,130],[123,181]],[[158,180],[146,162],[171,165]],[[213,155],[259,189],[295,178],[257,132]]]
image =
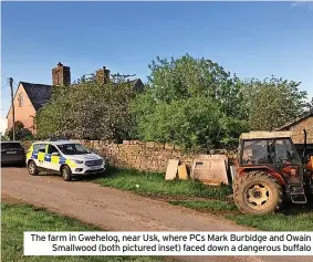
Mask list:
[[[304,130],[304,148],[306,132]],[[249,214],[278,211],[283,199],[306,203],[313,195],[313,154],[300,157],[290,132],[251,132],[240,136],[233,198]]]

